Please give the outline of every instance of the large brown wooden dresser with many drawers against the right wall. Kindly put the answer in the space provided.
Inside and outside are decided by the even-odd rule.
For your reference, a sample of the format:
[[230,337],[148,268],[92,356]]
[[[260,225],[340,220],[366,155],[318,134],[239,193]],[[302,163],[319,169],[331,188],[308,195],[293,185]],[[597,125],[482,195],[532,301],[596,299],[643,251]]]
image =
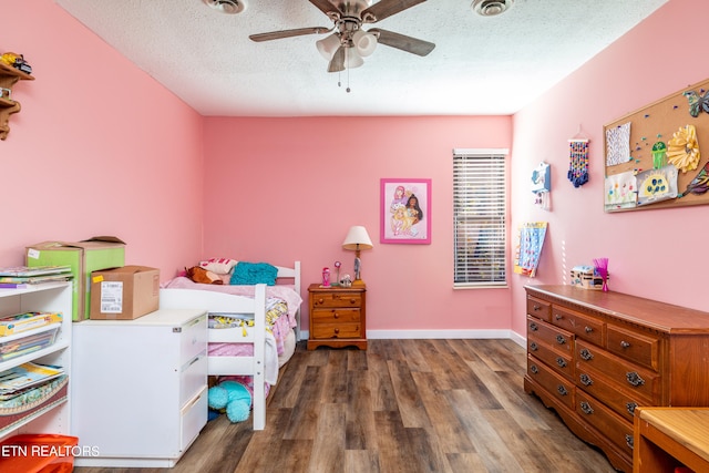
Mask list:
[[709,312],[619,292],[526,286],[524,389],[617,470],[637,407],[709,405]]

